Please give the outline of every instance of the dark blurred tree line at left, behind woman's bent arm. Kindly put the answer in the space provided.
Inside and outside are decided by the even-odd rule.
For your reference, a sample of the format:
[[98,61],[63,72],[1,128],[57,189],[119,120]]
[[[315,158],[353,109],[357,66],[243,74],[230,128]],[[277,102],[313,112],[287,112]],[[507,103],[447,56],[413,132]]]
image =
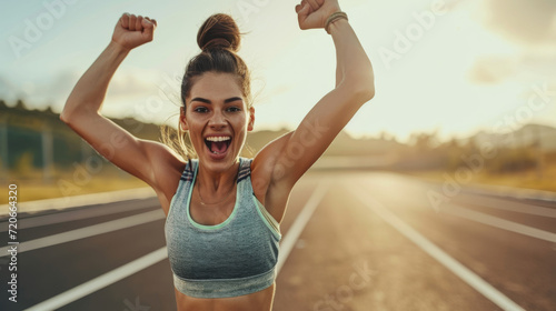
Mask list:
[[[135,119],[112,119],[117,124],[145,139],[157,140],[159,126]],[[57,170],[71,169],[73,163],[86,161],[96,151],[49,107],[30,110],[23,101],[8,107],[0,100],[0,169],[2,177],[32,177],[42,171],[51,177]]]

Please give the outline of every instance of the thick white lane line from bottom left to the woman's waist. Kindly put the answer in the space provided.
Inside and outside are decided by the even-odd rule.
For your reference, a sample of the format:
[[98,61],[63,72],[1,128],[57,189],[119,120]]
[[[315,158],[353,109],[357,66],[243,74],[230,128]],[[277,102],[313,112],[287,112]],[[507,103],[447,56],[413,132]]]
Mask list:
[[139,259],[136,259],[129,263],[121,265],[110,272],[99,275],[90,281],[87,281],[80,285],[72,288],[71,290],[64,291],[57,294],[50,299],[47,299],[39,304],[32,305],[24,311],[42,311],[42,310],[56,310],[68,303],[71,303],[80,298],[83,298],[92,292],[103,289],[112,283],[118,282],[131,274],[135,274],[155,263],[165,260],[168,257],[168,251],[166,247],[160,248],[151,253],[148,253]]

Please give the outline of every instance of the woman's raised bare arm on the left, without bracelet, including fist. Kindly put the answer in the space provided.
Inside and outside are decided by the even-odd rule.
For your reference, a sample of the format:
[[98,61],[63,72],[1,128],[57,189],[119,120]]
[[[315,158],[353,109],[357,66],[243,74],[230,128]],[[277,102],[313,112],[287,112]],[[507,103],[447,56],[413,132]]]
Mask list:
[[178,156],[161,143],[133,137],[102,117],[100,110],[116,69],[131,49],[152,40],[156,24],[156,20],[123,14],[112,40],[79,79],[60,114],[63,122],[107,160],[153,188],[160,165],[178,165]]

